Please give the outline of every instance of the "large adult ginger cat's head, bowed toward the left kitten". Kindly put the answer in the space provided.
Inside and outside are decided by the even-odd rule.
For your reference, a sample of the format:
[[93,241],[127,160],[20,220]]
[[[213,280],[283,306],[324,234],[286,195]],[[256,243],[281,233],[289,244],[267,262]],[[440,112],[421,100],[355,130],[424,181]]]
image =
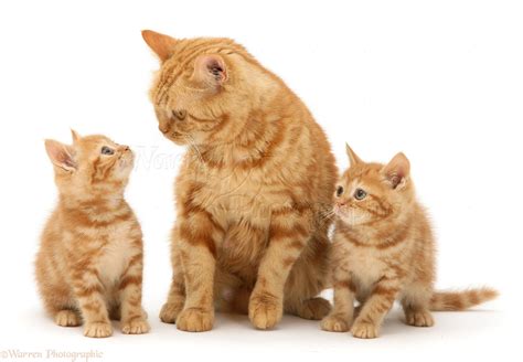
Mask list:
[[267,97],[258,91],[278,85],[230,39],[173,39],[149,30],[142,35],[161,62],[149,93],[159,129],[178,145],[234,140]]

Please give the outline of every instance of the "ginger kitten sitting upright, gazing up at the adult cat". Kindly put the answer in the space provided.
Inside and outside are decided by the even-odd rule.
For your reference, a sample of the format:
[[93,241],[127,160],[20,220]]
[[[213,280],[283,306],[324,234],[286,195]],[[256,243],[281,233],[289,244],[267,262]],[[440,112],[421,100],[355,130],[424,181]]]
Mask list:
[[147,333],[141,228],[124,199],[132,151],[72,132],[73,146],[45,141],[60,193],[36,257],[45,309],[58,326],[84,322],[87,337],[111,336],[109,318],[126,334]]

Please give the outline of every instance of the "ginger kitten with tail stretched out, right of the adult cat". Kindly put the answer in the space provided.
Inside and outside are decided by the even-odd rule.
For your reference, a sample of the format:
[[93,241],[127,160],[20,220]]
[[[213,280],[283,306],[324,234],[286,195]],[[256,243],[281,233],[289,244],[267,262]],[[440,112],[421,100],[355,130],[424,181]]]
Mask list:
[[[431,327],[430,310],[463,310],[498,295],[488,288],[435,291],[435,242],[416,201],[408,159],[398,153],[383,166],[363,162],[349,146],[346,152],[351,167],[334,205],[334,307],[323,330],[376,338],[396,299],[407,324]],[[354,299],[361,307],[353,321]]]

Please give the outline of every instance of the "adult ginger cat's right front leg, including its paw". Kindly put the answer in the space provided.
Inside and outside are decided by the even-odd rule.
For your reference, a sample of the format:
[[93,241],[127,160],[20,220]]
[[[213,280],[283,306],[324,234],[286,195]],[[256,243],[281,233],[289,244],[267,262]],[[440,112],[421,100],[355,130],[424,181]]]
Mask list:
[[281,319],[285,284],[310,237],[310,220],[309,210],[273,211],[269,245],[259,265],[248,306],[249,319],[258,329],[273,328]]

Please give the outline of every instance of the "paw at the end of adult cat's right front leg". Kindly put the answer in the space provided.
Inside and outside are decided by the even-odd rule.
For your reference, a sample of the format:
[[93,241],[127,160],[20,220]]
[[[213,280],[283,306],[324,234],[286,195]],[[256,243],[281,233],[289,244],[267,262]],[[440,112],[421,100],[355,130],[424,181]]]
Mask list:
[[284,315],[284,302],[271,294],[253,294],[248,305],[248,318],[257,329],[271,329]]

